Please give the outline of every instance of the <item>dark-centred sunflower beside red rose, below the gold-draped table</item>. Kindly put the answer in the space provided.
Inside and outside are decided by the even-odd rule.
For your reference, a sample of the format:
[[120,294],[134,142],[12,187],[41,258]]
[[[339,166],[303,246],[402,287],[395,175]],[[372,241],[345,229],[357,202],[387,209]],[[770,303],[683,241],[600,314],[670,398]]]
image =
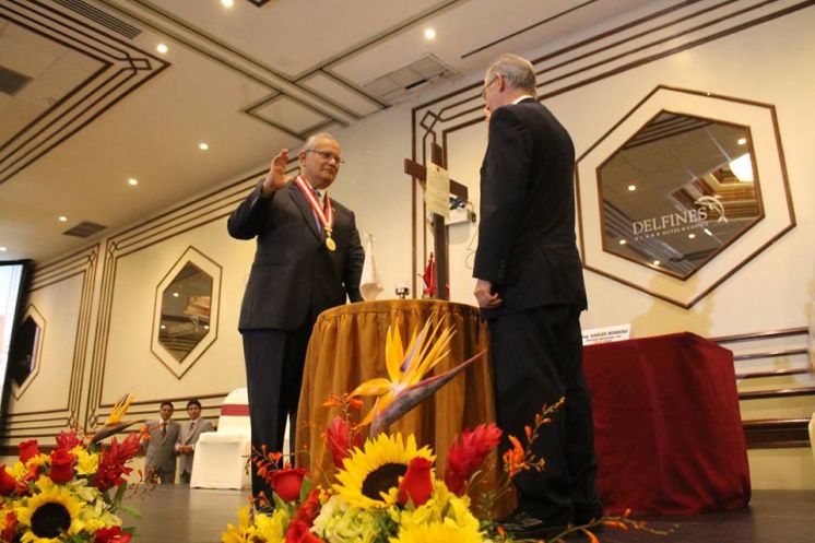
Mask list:
[[354,448],[343,460],[343,469],[336,474],[340,484],[333,485],[334,491],[349,505],[362,509],[392,505],[398,493],[389,491],[399,486],[399,477],[416,457],[430,461],[435,458],[429,448],[417,449],[412,435],[405,442],[399,433],[379,434],[374,440],[365,441],[363,450]]

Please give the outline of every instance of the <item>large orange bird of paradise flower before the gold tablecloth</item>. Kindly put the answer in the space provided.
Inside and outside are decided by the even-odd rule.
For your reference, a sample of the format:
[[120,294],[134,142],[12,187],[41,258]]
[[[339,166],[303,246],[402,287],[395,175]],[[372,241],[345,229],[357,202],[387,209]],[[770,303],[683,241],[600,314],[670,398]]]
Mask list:
[[482,351],[448,371],[423,379],[450,354],[449,344],[453,333],[451,327],[441,328],[441,321],[434,324],[434,319],[429,318],[421,331],[413,331],[405,350],[399,330],[388,327],[385,344],[388,377],[369,379],[349,394],[351,398],[376,398],[374,406],[359,423],[361,426],[370,424],[371,437],[449,382],[486,352]]

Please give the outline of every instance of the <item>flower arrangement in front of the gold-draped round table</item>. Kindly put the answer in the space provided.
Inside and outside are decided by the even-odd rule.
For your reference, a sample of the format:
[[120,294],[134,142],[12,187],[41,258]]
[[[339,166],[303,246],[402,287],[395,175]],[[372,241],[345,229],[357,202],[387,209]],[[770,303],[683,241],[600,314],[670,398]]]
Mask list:
[[[486,476],[480,467],[496,449],[503,434],[495,424],[463,430],[448,451],[442,474],[437,473],[435,455],[428,447],[418,447],[412,435],[382,430],[477,358],[422,380],[447,354],[451,333],[438,330],[438,326],[430,329],[430,323],[426,323],[403,349],[399,332],[389,329],[388,377],[366,381],[351,393],[332,394],[323,404],[341,412],[323,435],[338,469],[330,487],[316,487],[304,470],[292,467],[285,455],[256,451],[251,461],[273,491],[269,503],[258,505],[273,503],[273,509],[263,512],[269,509],[243,507],[237,524],[229,523],[223,532],[222,543],[512,542],[511,535],[491,518],[492,511],[518,473],[545,469],[545,459],[534,456],[532,444],[539,438],[541,426],[552,422],[565,400],[544,405],[520,438],[507,436],[511,448],[501,457],[501,475],[486,489],[476,483]],[[375,397],[376,401],[362,423],[354,424],[355,413],[363,406],[362,396]],[[362,430],[368,424],[370,436],[363,442]],[[597,543],[592,530],[600,526],[661,533],[626,515],[568,527],[551,541],[582,532]]]

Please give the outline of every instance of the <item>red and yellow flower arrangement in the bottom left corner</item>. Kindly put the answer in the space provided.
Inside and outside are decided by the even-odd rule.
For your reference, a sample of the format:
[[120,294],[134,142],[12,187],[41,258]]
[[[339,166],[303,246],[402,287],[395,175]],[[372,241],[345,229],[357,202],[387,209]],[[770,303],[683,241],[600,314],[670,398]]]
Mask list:
[[133,423],[122,423],[132,396],[114,406],[105,425],[92,436],[76,430],[57,436],[50,455],[36,440],[21,442],[19,460],[0,464],[0,542],[128,543],[133,530],[122,528],[119,511],[138,517],[122,504],[128,493],[128,461],[140,448],[140,434],[121,442],[101,440]]

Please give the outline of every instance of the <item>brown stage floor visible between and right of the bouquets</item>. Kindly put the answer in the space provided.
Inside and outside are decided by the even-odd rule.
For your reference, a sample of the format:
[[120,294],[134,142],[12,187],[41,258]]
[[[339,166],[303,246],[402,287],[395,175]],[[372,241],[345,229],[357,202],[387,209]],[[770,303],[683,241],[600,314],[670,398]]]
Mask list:
[[[248,492],[156,486],[143,498],[131,499],[143,518],[125,517],[135,526],[142,543],[217,543],[227,522]],[[747,509],[690,517],[648,518],[654,528],[677,526],[668,536],[606,530],[603,543],[810,543],[815,527],[815,491],[754,491]]]

